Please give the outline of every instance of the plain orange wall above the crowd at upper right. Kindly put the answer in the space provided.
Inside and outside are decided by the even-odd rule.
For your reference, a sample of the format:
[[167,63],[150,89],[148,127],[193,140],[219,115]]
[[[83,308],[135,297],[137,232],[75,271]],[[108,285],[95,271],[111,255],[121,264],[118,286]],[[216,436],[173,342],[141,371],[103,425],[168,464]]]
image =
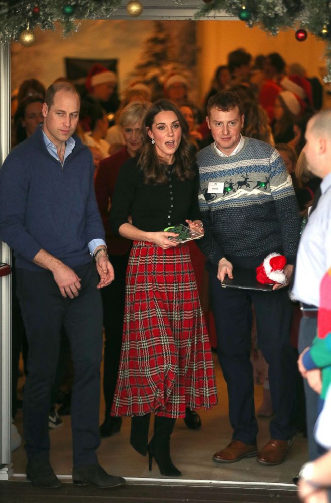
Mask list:
[[226,56],[239,47],[253,56],[279,52],[285,61],[301,63],[309,77],[321,78],[319,68],[325,66],[325,43],[308,34],[305,42],[297,42],[294,30],[282,31],[276,37],[259,28],[248,28],[242,21],[199,21],[200,92],[208,92],[215,68],[226,64]]

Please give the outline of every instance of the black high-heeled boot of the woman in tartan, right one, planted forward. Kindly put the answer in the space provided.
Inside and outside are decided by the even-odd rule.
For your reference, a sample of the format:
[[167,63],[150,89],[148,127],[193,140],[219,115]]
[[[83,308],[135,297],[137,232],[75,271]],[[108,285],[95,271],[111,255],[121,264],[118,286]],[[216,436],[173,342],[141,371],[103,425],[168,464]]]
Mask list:
[[149,470],[152,469],[153,457],[162,475],[167,477],[179,477],[181,472],[177,470],[170,458],[170,435],[176,419],[155,416],[154,437],[148,444]]

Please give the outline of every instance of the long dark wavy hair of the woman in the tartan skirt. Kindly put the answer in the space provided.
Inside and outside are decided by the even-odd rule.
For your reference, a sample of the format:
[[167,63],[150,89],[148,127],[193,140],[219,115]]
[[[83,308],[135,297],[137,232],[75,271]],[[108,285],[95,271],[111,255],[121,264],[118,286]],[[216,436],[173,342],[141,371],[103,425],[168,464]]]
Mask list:
[[189,146],[188,125],[182,112],[176,105],[167,99],[159,99],[153,103],[147,110],[145,121],[142,126],[143,147],[139,157],[139,164],[145,175],[145,183],[162,184],[167,182],[167,175],[164,170],[164,162],[151,143],[151,138],[147,134],[147,128],[152,129],[154,119],[160,112],[174,112],[176,114],[181,130],[182,137],[178,149],[174,154],[175,167],[174,173],[180,180],[194,178],[193,171],[194,157]]

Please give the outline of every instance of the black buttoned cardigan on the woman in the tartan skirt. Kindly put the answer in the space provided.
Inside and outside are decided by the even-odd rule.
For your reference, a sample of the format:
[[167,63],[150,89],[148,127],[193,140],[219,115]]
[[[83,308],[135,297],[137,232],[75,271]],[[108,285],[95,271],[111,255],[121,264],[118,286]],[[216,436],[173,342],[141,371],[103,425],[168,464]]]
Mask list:
[[110,211],[112,232],[118,234],[122,224],[131,216],[132,224],[147,232],[162,231],[171,225],[185,224],[186,219],[201,218],[198,203],[198,168],[191,180],[179,180],[173,165],[166,166],[168,181],[146,184],[138,159],[126,161],[119,172]]

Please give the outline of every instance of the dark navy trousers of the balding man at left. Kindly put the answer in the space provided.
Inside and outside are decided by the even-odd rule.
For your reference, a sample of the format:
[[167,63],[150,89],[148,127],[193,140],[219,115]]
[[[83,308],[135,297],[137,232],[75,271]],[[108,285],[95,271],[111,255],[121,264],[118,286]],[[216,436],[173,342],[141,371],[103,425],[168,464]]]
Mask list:
[[28,461],[48,461],[48,415],[63,325],[74,365],[71,402],[73,464],[97,462],[102,357],[102,301],[94,263],[74,268],[81,278],[78,297],[63,298],[49,271],[17,269],[17,293],[29,343],[23,397]]

